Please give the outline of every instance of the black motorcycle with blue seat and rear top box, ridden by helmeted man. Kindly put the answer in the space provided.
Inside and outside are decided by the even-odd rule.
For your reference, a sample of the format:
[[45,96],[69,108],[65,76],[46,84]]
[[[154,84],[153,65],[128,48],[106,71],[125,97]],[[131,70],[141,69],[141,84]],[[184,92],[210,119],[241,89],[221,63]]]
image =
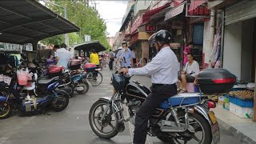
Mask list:
[[[177,94],[162,102],[149,118],[147,134],[172,144],[217,143],[220,140],[218,122],[210,110],[215,108],[216,102],[208,98],[208,92],[214,94],[231,90],[236,79],[226,71],[209,73],[202,70],[202,74],[198,75],[202,92]],[[213,78],[214,74],[217,78]],[[231,75],[231,78],[218,78],[219,75]],[[203,78],[200,79],[200,76]],[[94,134],[106,139],[125,130],[124,122],[135,124],[136,112],[151,92],[139,82],[130,82],[130,77],[123,74],[113,74],[112,84],[115,91],[112,97],[99,98],[91,106],[89,114]],[[129,118],[124,118],[123,104],[128,108]]]

